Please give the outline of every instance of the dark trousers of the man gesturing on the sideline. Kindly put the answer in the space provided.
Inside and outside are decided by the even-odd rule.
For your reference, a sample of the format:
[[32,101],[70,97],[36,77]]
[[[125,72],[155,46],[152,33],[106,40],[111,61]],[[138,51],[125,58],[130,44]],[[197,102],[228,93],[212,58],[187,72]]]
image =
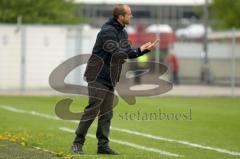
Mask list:
[[98,82],[88,84],[89,104],[84,109],[84,113],[76,130],[74,143],[84,144],[88,128],[96,116],[98,116],[96,132],[98,147],[105,148],[109,146],[110,122],[113,116],[113,93],[113,87]]

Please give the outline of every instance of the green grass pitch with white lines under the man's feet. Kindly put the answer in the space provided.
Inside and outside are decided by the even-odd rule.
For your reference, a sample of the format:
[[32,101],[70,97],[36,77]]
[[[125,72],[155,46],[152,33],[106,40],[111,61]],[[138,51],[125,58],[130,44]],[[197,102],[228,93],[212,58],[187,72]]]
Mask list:
[[[40,147],[58,156],[78,158],[71,156],[70,151],[72,131],[78,124],[52,118],[56,116],[56,102],[63,98],[0,96],[0,139],[26,148]],[[83,110],[87,104],[85,97],[71,98],[74,99],[73,112]],[[96,123],[89,134],[95,135]],[[96,155],[97,140],[90,136],[84,146],[85,155],[80,158],[240,158],[239,98],[150,97],[137,98],[134,106],[120,100],[111,125],[110,145],[121,155]],[[71,131],[63,131],[66,128]],[[6,153],[3,147],[0,144],[0,158]]]

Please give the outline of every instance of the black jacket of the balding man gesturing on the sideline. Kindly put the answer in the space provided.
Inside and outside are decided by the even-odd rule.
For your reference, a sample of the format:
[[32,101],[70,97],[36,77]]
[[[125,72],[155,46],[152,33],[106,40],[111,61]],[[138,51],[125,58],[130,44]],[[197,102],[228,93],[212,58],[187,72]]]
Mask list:
[[115,86],[119,81],[125,59],[136,58],[147,52],[149,50],[141,52],[140,48],[132,48],[124,26],[115,18],[110,18],[97,35],[85,71],[86,80]]

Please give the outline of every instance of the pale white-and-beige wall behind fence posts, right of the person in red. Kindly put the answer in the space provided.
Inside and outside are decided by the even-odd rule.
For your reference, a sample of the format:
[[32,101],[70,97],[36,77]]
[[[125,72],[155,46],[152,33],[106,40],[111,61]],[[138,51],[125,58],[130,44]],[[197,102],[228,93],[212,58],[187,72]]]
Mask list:
[[[209,70],[213,84],[230,85],[232,78],[240,84],[240,45],[231,41],[210,41],[208,49]],[[233,47],[235,47],[234,57]],[[176,42],[174,52],[179,58],[179,76],[182,83],[199,83],[203,59],[203,45],[200,42]],[[235,61],[233,68],[233,61]],[[233,73],[234,71],[234,73]],[[234,74],[234,77],[232,77]],[[180,81],[180,82],[181,82]]]

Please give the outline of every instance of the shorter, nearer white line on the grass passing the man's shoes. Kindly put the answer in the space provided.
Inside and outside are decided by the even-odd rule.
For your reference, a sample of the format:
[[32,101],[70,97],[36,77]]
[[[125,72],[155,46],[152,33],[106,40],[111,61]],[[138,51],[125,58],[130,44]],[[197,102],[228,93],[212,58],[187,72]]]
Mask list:
[[[66,127],[60,127],[59,129],[62,130],[62,131],[65,131],[65,132],[70,132],[70,133],[75,132],[73,129],[69,129],[69,128],[66,128]],[[95,138],[95,135],[93,135],[93,134],[88,133],[87,136],[91,137],[91,138]],[[159,153],[161,155],[167,155],[167,156],[172,156],[172,157],[183,157],[183,156],[178,155],[178,154],[170,153],[170,152],[155,149],[155,148],[145,147],[145,146],[137,145],[137,144],[126,142],[126,141],[121,141],[121,140],[116,140],[116,139],[110,139],[110,141],[115,142],[117,144],[121,144],[121,145],[129,146],[129,147],[133,147],[133,148],[136,148],[136,149],[144,150],[144,151],[151,151],[151,152]]]

